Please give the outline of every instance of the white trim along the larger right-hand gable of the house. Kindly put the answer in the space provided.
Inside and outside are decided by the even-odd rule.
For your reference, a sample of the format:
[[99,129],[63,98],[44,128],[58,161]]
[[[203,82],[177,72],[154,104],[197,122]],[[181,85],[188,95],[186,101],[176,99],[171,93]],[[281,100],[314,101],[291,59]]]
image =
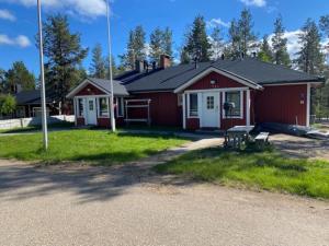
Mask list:
[[182,91],[184,91],[186,87],[191,86],[192,84],[194,84],[195,82],[197,82],[198,80],[201,80],[202,78],[204,78],[205,75],[209,74],[211,72],[216,72],[216,73],[219,73],[222,75],[225,75],[231,80],[235,80],[237,81],[238,83],[241,83],[248,87],[252,87],[252,89],[256,89],[256,90],[262,90],[263,87],[259,84],[256,84],[254,82],[248,80],[248,79],[245,79],[245,78],[240,78],[240,77],[237,77],[235,74],[231,74],[231,73],[228,73],[228,72],[225,72],[223,70],[219,70],[219,69],[216,69],[214,67],[212,68],[208,68],[206,69],[205,71],[198,73],[196,77],[194,77],[193,79],[191,79],[190,81],[188,81],[186,83],[184,83],[183,85],[179,86],[178,89],[175,89],[173,92],[174,93],[181,93]]

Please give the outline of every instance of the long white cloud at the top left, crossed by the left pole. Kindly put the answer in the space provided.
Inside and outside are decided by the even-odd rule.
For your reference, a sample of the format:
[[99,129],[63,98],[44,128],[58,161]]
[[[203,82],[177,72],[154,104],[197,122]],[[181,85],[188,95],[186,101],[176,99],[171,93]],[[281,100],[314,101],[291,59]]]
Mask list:
[[[36,0],[2,0],[25,7],[36,5]],[[44,0],[43,7],[50,10],[65,10],[84,17],[98,17],[105,15],[106,4],[104,0]]]

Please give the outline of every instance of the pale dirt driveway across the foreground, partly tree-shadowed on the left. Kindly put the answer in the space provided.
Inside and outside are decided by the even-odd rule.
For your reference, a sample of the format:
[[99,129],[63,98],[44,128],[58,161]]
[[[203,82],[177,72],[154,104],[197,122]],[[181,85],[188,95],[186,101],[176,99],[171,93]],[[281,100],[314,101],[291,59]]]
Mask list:
[[329,245],[328,202],[144,172],[0,161],[0,245]]

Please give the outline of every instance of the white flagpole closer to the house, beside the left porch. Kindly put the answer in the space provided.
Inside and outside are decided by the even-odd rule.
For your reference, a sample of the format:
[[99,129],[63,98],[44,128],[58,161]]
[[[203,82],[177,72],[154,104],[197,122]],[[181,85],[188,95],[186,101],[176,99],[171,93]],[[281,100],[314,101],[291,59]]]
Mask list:
[[113,95],[113,72],[112,72],[112,47],[111,47],[111,23],[110,23],[110,2],[106,0],[106,15],[107,15],[107,42],[109,42],[109,77],[111,86],[110,108],[111,108],[111,127],[115,132],[115,118],[114,118],[114,95]]

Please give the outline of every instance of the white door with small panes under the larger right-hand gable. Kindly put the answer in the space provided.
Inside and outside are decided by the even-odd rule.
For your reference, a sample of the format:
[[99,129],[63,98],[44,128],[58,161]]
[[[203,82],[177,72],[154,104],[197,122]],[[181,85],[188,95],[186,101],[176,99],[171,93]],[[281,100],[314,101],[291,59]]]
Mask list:
[[219,128],[219,93],[202,95],[202,127]]

